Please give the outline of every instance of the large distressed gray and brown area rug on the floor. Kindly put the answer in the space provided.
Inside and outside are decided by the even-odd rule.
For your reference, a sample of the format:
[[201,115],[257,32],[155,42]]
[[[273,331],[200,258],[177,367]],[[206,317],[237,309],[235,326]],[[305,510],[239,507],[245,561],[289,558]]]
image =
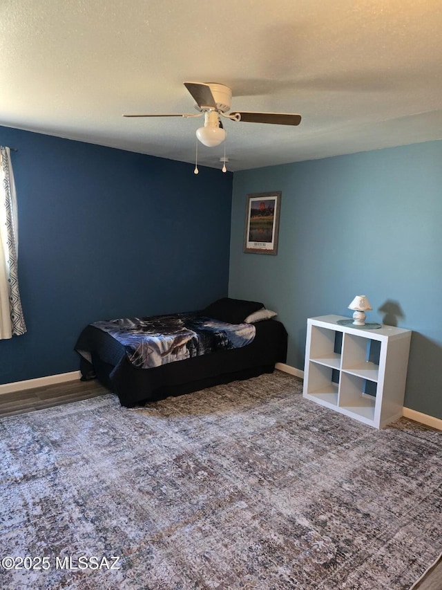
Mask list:
[[1,588],[408,590],[442,550],[442,434],[301,387],[2,418]]

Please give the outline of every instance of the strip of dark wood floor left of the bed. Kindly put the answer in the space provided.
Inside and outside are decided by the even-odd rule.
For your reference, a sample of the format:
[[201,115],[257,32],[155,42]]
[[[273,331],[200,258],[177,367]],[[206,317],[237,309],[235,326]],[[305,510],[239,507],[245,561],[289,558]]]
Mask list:
[[96,380],[67,381],[46,387],[36,387],[12,394],[0,394],[0,416],[35,412],[45,407],[95,398],[109,391]]

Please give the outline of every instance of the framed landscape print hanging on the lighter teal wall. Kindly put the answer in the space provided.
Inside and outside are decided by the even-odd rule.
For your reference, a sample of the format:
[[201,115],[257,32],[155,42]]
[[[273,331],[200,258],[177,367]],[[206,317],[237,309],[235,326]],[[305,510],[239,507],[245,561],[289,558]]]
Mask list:
[[280,191],[247,195],[244,252],[278,254],[280,210]]

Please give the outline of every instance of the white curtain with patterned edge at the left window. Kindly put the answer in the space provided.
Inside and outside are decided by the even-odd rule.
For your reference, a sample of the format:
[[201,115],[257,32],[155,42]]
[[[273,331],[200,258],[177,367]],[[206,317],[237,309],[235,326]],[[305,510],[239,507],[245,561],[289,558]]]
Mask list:
[[26,332],[17,277],[17,195],[9,147],[0,146],[0,340]]

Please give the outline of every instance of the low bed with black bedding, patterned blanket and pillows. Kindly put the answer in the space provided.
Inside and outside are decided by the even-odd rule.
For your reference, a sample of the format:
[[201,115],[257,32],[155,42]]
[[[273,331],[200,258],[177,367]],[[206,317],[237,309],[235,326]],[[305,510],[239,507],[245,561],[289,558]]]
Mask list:
[[[276,313],[260,302],[223,297],[190,314],[136,318],[137,322],[134,318],[95,322],[81,331],[75,344],[80,355],[81,379],[97,378],[117,394],[123,406],[135,407],[168,396],[271,373],[276,362],[285,362],[287,356],[287,331],[275,316]],[[176,322],[184,326],[180,331],[179,346],[174,348],[157,340],[154,346],[146,346],[140,340],[144,331],[152,333],[152,326],[157,329],[160,318],[162,321],[166,318],[166,326]],[[136,346],[128,340],[132,336],[124,333],[124,338],[119,338],[118,334],[121,326],[134,323]],[[213,351],[195,352],[201,347],[194,344],[193,329],[200,325],[204,343],[215,341],[217,344]],[[247,326],[250,326],[249,330]],[[228,329],[233,329],[233,336],[226,336]],[[166,333],[168,331],[166,329]],[[233,347],[231,340],[236,342],[240,338],[243,338],[242,343]],[[202,349],[204,347],[205,344]],[[144,349],[150,351],[153,361],[142,357],[140,350]],[[165,349],[168,354],[173,349],[176,358],[169,354],[164,360]],[[153,366],[148,366],[149,363]]]

